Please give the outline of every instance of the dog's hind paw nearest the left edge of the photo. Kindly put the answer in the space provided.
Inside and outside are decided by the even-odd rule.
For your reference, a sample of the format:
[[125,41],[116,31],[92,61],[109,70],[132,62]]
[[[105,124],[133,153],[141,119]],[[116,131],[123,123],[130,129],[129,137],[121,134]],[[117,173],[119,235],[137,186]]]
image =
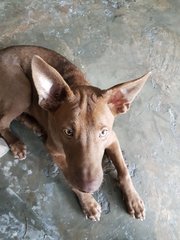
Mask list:
[[26,158],[26,146],[21,141],[10,144],[10,149],[14,158],[19,160],[24,160]]

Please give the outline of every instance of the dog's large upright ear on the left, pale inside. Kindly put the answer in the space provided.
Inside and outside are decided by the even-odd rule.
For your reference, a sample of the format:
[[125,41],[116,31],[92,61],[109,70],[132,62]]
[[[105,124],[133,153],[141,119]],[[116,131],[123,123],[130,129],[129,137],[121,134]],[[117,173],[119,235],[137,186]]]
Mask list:
[[42,108],[54,111],[65,98],[73,97],[73,92],[62,76],[42,58],[35,55],[31,67],[39,105]]

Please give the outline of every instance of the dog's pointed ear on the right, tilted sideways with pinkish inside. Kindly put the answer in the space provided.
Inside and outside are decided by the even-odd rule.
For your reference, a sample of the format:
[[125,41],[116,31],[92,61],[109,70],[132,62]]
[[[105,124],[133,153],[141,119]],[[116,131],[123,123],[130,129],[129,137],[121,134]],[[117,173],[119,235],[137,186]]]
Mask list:
[[108,105],[114,115],[126,113],[131,103],[143,88],[151,72],[125,83],[118,84],[105,91]]

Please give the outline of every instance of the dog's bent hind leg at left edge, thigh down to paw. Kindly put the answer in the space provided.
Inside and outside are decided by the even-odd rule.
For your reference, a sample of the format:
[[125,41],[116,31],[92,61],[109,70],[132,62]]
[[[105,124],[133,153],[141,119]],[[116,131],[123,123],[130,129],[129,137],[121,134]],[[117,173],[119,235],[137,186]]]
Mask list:
[[18,66],[12,66],[0,78],[0,136],[9,145],[13,155],[18,159],[26,158],[26,147],[10,130],[11,122],[26,111],[31,103],[31,86],[29,80]]

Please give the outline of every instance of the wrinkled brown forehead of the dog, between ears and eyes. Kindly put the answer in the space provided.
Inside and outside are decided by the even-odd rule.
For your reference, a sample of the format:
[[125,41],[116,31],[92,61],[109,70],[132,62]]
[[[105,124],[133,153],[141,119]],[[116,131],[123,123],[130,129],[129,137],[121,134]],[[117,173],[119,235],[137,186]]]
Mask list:
[[63,104],[61,113],[62,108],[63,118],[75,124],[103,125],[109,118],[109,114],[106,114],[109,108],[102,91],[90,86],[75,89],[73,100]]

